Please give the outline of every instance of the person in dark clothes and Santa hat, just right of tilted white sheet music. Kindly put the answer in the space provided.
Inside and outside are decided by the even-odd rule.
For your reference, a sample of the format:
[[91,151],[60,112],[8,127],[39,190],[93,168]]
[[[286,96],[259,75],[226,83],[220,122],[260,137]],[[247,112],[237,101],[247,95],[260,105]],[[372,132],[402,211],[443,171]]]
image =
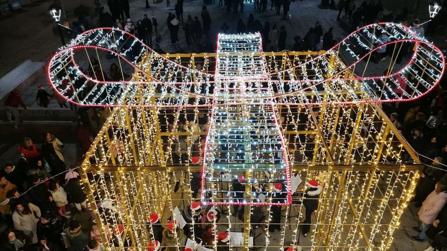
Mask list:
[[197,243],[201,242],[200,238],[202,237],[200,223],[202,222],[203,214],[200,213],[201,210],[201,203],[193,202],[189,206],[186,206],[182,213],[186,221],[186,225],[183,227],[184,233],[189,239],[194,239]]

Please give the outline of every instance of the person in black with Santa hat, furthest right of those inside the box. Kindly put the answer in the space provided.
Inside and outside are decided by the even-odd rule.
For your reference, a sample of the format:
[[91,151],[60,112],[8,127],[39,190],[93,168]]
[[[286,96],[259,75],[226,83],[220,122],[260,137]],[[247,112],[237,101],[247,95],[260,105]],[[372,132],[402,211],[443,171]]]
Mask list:
[[318,208],[318,203],[320,199],[320,194],[322,192],[322,188],[318,185],[318,182],[315,180],[309,181],[307,183],[307,190],[304,193],[303,205],[306,208],[306,220],[303,225],[303,236],[306,237],[307,233],[310,231],[310,224],[312,219],[312,213]]

